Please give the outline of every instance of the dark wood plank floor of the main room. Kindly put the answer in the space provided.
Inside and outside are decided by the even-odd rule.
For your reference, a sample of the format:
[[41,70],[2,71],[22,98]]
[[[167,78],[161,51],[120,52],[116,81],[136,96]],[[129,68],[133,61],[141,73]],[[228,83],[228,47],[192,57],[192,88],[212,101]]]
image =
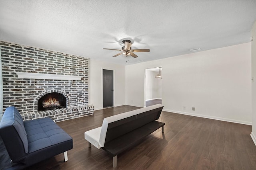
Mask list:
[[88,148],[84,132],[100,127],[104,117],[137,109],[133,106],[111,107],[94,115],[58,122],[74,140],[68,151],[38,163],[28,170],[255,170],[256,146],[250,125],[230,123],[162,111],[164,133],[158,129],[133,149],[112,156],[94,146]]

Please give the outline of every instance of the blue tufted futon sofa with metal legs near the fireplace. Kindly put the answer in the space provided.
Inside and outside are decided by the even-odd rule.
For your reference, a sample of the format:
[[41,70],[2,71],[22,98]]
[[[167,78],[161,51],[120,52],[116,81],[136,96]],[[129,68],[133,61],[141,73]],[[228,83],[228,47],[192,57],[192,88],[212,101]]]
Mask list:
[[[26,168],[73,148],[73,139],[49,117],[23,121],[16,107],[8,107],[0,135],[15,169]],[[17,168],[20,167],[20,168]]]

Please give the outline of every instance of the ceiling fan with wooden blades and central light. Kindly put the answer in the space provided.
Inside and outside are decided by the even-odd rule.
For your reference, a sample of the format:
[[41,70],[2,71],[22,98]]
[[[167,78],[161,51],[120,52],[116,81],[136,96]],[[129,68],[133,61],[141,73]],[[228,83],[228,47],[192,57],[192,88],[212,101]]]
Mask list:
[[122,41],[124,43],[124,47],[122,47],[121,50],[119,49],[105,49],[104,50],[116,50],[116,51],[121,51],[121,53],[118,53],[117,55],[114,55],[113,57],[116,57],[118,55],[125,55],[125,56],[129,56],[131,55],[132,57],[136,58],[138,57],[138,55],[134,54],[134,52],[149,52],[149,49],[132,49],[132,43],[130,40],[125,39]]

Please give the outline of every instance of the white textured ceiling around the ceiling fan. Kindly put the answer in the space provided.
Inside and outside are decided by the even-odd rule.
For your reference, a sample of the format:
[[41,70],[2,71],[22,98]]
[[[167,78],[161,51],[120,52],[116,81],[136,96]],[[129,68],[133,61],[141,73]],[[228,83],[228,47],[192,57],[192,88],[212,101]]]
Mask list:
[[[1,40],[124,65],[250,42],[255,20],[256,1],[0,0]],[[150,52],[103,50],[125,38]]]

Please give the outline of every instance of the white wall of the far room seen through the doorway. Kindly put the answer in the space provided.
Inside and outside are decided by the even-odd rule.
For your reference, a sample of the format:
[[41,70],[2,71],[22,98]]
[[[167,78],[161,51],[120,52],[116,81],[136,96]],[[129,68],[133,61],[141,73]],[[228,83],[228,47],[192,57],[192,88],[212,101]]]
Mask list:
[[146,73],[146,100],[161,99],[162,98],[162,79],[155,78],[158,72],[145,70]]

